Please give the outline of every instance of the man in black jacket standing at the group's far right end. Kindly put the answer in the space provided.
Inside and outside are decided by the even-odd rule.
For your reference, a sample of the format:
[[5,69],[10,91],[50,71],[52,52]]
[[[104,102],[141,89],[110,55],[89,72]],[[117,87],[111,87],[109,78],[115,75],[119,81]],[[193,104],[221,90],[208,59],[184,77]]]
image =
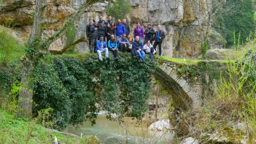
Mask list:
[[[159,56],[162,54],[162,42],[163,39],[165,38],[165,32],[161,29],[161,26],[157,26],[157,32],[155,32],[155,37],[154,37],[154,45],[153,47],[156,48],[158,45],[159,48]],[[156,51],[156,49],[155,49]]]

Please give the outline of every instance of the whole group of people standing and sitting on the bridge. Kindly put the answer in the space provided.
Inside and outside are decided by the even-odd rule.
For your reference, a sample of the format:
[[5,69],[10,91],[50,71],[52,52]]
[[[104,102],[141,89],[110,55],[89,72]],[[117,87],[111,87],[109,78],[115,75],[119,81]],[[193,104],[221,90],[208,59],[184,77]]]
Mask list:
[[[108,58],[109,51],[114,54],[116,60],[118,60],[118,51],[121,51],[129,52],[133,58],[139,57],[142,61],[145,61],[145,54],[149,54],[150,59],[154,61],[153,57],[155,56],[157,45],[159,56],[161,56],[165,33],[160,25],[157,26],[157,31],[155,32],[151,24],[147,25],[145,31],[139,22],[136,24],[137,26],[133,31],[133,37],[135,38],[133,41],[133,37],[128,37],[131,29],[126,19],[123,19],[123,22],[117,19],[117,23],[115,23],[111,16],[108,16],[107,21],[104,21],[103,17],[99,16],[98,22],[90,18],[86,27],[86,36],[88,37],[91,53],[98,53],[101,61],[101,53],[105,52],[105,57]],[[144,43],[142,43],[143,37]],[[154,45],[152,46],[153,42]]]

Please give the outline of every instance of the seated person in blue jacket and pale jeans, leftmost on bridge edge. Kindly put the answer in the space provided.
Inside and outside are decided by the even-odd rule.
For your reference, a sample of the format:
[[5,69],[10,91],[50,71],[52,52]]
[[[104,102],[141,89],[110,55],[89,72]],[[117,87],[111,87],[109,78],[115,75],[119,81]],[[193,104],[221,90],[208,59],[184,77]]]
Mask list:
[[107,49],[106,42],[104,41],[104,37],[100,37],[100,40],[97,41],[95,52],[99,55],[99,60],[102,61],[101,53],[105,52],[106,58],[109,57],[109,51]]

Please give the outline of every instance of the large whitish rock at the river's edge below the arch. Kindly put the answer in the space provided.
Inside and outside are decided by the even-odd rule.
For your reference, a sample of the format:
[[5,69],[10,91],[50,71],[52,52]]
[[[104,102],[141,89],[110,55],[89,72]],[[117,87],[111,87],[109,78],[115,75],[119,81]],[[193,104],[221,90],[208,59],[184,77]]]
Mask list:
[[153,130],[153,131],[154,130],[163,131],[167,129],[171,129],[170,120],[159,120],[155,123],[152,123],[149,126],[149,130]]

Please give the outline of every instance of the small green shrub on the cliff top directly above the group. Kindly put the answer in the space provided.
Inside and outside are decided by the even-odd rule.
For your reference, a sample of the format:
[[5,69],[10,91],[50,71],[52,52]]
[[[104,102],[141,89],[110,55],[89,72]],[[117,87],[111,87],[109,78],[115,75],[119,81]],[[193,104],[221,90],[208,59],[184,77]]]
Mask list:
[[107,14],[117,19],[127,19],[131,13],[131,3],[128,0],[115,0],[112,7],[107,7]]

